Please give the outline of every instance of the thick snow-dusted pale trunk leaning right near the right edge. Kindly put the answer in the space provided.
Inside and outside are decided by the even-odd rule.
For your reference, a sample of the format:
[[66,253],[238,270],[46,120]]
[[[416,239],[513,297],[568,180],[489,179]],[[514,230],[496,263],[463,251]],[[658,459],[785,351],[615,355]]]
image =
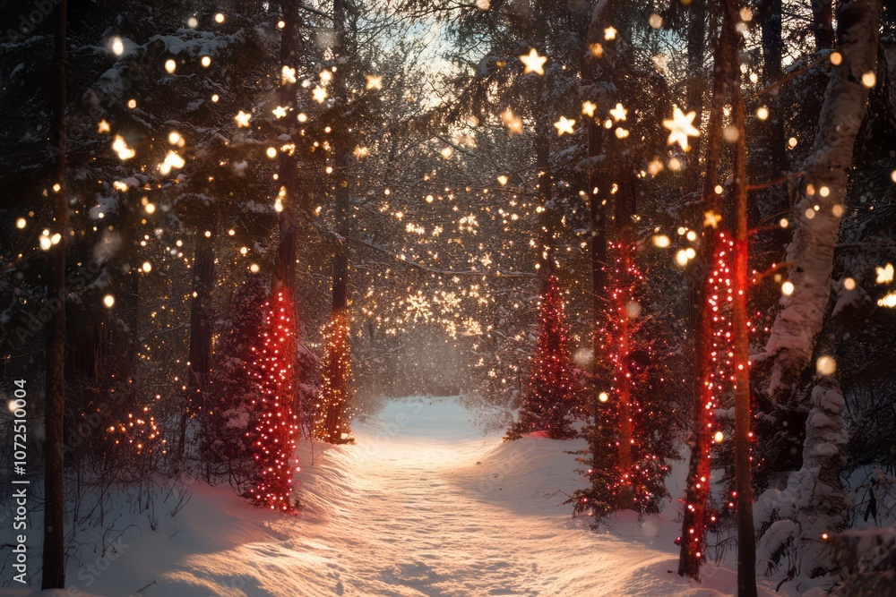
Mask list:
[[880,18],[880,0],[852,0],[840,5],[838,31],[843,59],[840,65],[831,67],[813,153],[806,161],[806,175],[796,193],[796,225],[785,259],[794,290],[781,298],[761,357],[771,360],[764,389],[776,403],[790,393],[806,369],[814,338],[822,328],[853,145],[868,101],[863,75],[874,72],[877,64]]

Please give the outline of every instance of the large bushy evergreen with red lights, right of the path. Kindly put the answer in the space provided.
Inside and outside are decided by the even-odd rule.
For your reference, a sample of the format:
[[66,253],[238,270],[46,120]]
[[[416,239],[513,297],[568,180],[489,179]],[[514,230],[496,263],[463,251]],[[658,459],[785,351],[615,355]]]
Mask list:
[[663,368],[651,341],[656,330],[642,317],[645,285],[635,244],[607,243],[607,249],[607,309],[595,343],[596,358],[606,363],[608,371],[600,377],[607,385],[583,430],[591,454],[579,461],[590,467],[584,472],[590,487],[575,491],[570,500],[576,513],[586,512],[596,523],[624,508],[658,513],[669,497],[665,479],[676,454]]

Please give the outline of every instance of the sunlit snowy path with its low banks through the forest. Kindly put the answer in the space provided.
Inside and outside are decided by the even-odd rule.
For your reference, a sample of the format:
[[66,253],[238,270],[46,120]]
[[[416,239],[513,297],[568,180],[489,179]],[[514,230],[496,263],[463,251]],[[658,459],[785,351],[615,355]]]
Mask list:
[[261,511],[228,487],[196,483],[189,503],[177,516],[161,516],[155,531],[128,529],[114,559],[71,561],[68,584],[82,593],[70,594],[735,593],[726,568],[706,567],[703,584],[674,574],[674,520],[621,516],[612,533],[594,533],[588,520],[573,519],[561,504],[582,480],[564,451],[580,448],[578,441],[503,443],[500,433],[483,436],[469,420],[456,399],[406,398],[356,422],[355,445],[304,445],[298,516]]

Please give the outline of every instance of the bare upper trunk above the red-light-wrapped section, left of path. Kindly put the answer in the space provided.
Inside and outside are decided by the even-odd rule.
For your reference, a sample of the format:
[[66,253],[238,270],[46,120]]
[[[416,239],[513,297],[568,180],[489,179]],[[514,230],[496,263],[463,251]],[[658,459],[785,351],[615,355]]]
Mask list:
[[[287,69],[298,68],[299,39],[299,0],[281,0],[283,30],[280,37],[280,106],[289,112],[289,132],[293,143],[297,145],[296,129],[297,100],[296,79],[286,74]],[[297,76],[297,74],[295,74]],[[298,157],[297,149],[280,151],[278,181],[280,182],[280,244],[277,247],[277,274],[274,279],[274,290],[282,289],[289,296],[290,304],[296,300],[296,250],[297,250],[297,201],[298,201]]]

